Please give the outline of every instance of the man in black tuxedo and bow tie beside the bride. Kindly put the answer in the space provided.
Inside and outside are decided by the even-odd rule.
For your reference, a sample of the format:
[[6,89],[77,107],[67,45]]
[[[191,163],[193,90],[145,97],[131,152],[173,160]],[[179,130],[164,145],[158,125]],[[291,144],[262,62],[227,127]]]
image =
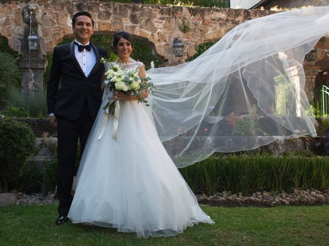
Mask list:
[[81,153],[101,105],[101,57],[106,50],[89,42],[94,20],[88,12],[72,18],[74,42],[54,48],[47,87],[50,125],[58,131],[57,197],[59,217],[56,224],[67,221],[72,202],[78,138]]

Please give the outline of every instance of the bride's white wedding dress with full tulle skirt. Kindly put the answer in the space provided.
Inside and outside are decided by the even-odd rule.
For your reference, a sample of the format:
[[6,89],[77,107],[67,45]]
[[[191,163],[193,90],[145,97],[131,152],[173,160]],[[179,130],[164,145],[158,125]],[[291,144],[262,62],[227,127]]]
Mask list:
[[[133,71],[141,63],[124,64]],[[158,137],[150,109],[120,101],[117,140],[109,115],[105,131],[105,91],[77,175],[68,213],[73,223],[92,223],[135,232],[138,237],[174,236],[198,222],[214,223],[198,206]]]

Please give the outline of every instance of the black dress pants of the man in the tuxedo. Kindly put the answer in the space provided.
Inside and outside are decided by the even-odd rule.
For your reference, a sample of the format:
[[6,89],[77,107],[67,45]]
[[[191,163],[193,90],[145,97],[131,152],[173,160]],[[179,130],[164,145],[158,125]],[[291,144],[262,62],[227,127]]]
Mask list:
[[57,198],[59,215],[67,215],[73,197],[71,195],[72,181],[76,166],[78,138],[80,138],[81,154],[94,120],[90,117],[85,103],[78,120],[71,121],[57,116],[58,129],[58,170],[57,170]]

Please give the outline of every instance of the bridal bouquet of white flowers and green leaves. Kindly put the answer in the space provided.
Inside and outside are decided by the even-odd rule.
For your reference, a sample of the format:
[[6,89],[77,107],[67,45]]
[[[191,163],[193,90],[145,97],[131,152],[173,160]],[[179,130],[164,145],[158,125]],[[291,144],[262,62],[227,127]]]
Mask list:
[[[146,106],[150,106],[148,101],[141,97],[143,91],[149,91],[151,93],[154,90],[154,86],[149,82],[150,77],[140,78],[136,75],[139,67],[133,71],[128,71],[122,68],[118,64],[109,62],[105,58],[101,58],[101,62],[107,65],[107,71],[105,72],[106,79],[104,85],[109,88],[110,91],[116,89],[126,93],[127,95],[134,95],[137,98],[138,103],[145,103]],[[106,109],[108,110],[106,111]],[[103,107],[107,113],[114,115],[115,112],[115,99],[111,99]]]

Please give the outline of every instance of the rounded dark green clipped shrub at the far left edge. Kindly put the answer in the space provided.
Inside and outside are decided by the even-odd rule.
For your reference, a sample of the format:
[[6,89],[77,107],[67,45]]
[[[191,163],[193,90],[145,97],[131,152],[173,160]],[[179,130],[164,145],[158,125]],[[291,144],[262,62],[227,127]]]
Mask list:
[[0,136],[0,188],[7,192],[33,153],[35,137],[27,124],[10,118],[0,118]]

